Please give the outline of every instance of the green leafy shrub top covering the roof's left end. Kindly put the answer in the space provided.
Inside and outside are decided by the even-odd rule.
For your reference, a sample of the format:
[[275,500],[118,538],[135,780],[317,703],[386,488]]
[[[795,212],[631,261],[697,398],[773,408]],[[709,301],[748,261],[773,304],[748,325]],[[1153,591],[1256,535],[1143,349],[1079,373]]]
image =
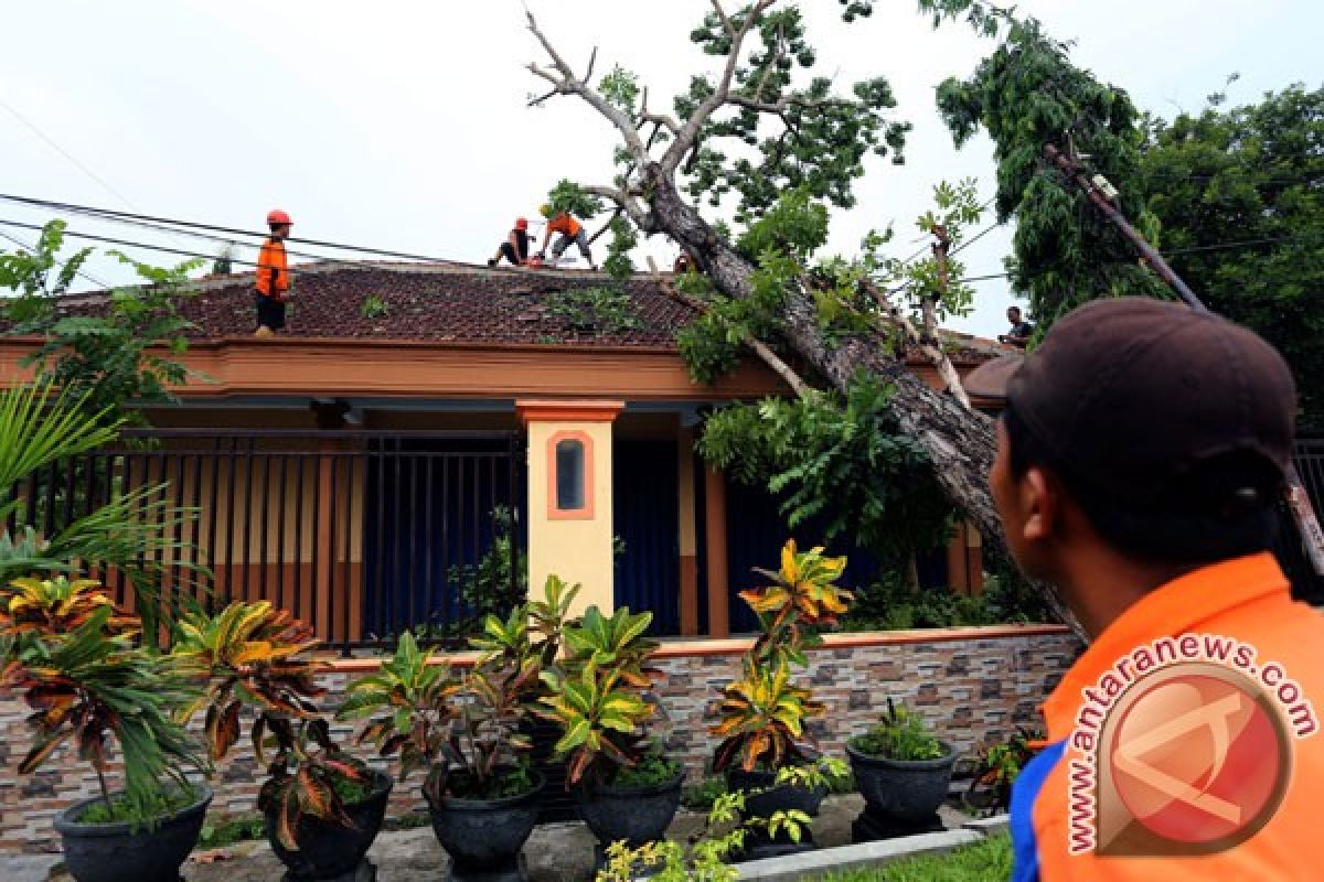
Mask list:
[[86,401],[103,422],[126,417],[142,422],[134,409],[175,401],[169,386],[188,376],[176,360],[188,348],[192,325],[180,317],[177,304],[195,295],[188,274],[203,261],[160,268],[111,251],[134,267],[143,284],[109,292],[99,315],[70,313],[60,298],[90,251],[74,254],[52,280],[64,230],[64,221],[48,223],[36,254],[0,253],[0,288],[19,295],[5,304],[8,332],[42,337],[23,364]]

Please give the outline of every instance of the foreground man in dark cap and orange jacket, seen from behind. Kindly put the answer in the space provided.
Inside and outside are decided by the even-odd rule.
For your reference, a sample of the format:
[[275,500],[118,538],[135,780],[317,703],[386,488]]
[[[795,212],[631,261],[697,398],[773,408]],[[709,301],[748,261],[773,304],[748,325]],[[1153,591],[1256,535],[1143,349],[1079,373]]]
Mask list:
[[1211,313],[1120,298],[968,380],[1005,402],[1008,549],[1091,640],[1013,788],[1014,882],[1324,879],[1324,616],[1270,551],[1287,364]]

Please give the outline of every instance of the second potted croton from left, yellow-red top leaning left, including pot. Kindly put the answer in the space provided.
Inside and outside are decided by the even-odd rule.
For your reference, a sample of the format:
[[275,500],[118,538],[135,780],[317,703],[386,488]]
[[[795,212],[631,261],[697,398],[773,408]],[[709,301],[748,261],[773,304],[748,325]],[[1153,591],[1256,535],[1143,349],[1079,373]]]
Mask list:
[[271,850],[295,879],[352,871],[381,829],[392,782],[332,742],[314,701],[326,690],[310,657],[312,629],[263,600],[187,616],[179,631],[172,655],[207,681],[185,714],[205,707],[212,759],[238,739],[244,705],[254,711],[250,738],[267,770],[258,808]]

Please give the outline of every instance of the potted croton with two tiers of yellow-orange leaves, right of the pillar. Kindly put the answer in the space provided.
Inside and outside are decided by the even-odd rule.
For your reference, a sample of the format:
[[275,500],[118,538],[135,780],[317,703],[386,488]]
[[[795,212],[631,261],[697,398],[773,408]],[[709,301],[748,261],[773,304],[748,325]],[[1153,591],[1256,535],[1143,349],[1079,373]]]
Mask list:
[[[793,666],[808,664],[805,649],[821,641],[818,629],[835,624],[851,599],[850,591],[835,584],[846,558],[822,551],[798,551],[789,540],[779,571],[757,570],[771,584],[740,594],[759,616],[763,633],[744,657],[740,680],[722,690],[720,719],[711,729],[722,743],[712,767],[726,772],[732,791],[747,795],[745,812],[759,817],[786,809],[814,815],[826,793],[824,776],[813,771],[817,752],[810,750],[813,737],[805,726],[825,706],[790,678]],[[777,783],[779,771],[797,767],[805,774],[793,775],[789,784],[786,776]]]

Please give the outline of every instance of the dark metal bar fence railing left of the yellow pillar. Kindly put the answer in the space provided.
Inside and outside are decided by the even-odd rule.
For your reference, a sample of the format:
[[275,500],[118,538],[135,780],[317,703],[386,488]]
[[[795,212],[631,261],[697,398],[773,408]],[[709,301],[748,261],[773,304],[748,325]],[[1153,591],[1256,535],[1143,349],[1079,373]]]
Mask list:
[[[155,534],[158,602],[270,600],[342,649],[450,643],[522,591],[515,432],[142,430],[9,488],[42,536],[106,500],[189,510]],[[11,518],[11,530],[17,514]],[[89,574],[134,604],[115,570]]]

